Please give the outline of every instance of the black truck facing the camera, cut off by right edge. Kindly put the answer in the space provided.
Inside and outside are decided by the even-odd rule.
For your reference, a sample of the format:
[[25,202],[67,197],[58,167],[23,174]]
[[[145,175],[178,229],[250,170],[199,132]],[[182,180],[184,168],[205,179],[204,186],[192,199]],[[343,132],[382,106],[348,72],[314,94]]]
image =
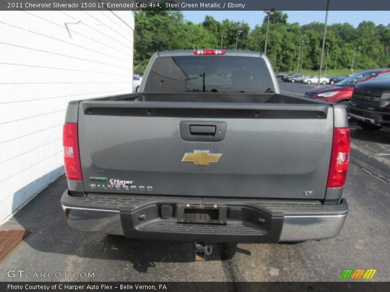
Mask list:
[[390,76],[381,76],[356,84],[347,106],[348,115],[365,130],[390,127]]

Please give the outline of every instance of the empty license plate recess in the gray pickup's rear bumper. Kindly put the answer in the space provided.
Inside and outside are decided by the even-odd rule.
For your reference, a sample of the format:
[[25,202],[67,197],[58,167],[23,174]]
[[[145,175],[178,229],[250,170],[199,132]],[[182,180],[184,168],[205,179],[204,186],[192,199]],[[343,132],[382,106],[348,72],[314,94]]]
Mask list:
[[177,205],[178,223],[225,224],[226,207],[214,205]]

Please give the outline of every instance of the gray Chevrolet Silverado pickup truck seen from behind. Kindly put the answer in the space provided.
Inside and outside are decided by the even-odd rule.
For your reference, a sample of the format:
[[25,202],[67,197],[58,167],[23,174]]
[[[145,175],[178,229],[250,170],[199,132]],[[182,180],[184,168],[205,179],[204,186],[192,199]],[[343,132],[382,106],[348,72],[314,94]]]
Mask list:
[[148,240],[277,243],[337,236],[343,105],[279,93],[258,52],[152,56],[139,92],[71,101],[68,224]]

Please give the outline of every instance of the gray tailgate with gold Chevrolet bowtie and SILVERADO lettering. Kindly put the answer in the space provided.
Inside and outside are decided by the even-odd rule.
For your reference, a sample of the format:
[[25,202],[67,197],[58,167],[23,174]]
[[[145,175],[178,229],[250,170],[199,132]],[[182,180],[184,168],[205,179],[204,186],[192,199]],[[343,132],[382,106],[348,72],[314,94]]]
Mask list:
[[78,110],[91,193],[323,199],[332,133],[326,104],[91,100]]

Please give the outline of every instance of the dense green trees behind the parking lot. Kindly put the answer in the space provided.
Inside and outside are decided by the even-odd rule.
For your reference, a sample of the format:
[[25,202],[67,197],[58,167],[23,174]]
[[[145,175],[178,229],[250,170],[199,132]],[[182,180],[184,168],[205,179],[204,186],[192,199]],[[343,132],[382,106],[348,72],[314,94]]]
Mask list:
[[[317,70],[324,23],[300,26],[287,20],[288,15],[281,11],[270,18],[267,54],[274,69],[296,71],[302,66]],[[223,49],[234,50],[237,41],[238,50],[263,51],[267,22],[266,16],[261,25],[251,30],[244,21],[217,21],[206,16],[202,23],[193,23],[186,21],[180,11],[139,12],[134,38],[135,71],[143,73],[157,51],[221,48],[221,41]],[[328,48],[329,69],[351,68],[352,60],[354,69],[390,67],[390,24],[375,26],[372,21],[362,21],[357,28],[349,23],[332,24],[328,26],[326,52]]]

